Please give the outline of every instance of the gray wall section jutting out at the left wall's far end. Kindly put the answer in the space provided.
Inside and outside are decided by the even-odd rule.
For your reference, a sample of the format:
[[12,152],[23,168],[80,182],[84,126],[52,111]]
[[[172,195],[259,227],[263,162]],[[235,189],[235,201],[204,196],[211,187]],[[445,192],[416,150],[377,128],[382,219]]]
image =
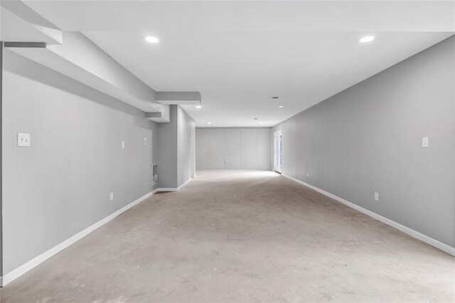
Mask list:
[[[169,106],[170,122],[159,124],[158,183],[178,188],[191,179],[191,118],[180,106]],[[165,168],[165,169],[164,169]]]

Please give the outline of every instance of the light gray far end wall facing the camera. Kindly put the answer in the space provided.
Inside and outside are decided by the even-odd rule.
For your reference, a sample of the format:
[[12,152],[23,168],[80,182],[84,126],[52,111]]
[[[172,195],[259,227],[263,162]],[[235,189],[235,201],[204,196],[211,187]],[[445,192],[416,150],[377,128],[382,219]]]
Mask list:
[[271,128],[197,128],[196,169],[272,169]]

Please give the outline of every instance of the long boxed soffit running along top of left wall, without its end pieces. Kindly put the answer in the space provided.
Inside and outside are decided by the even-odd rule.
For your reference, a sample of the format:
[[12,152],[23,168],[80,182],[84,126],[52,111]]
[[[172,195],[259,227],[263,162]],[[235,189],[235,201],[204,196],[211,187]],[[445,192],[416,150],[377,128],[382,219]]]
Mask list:
[[168,105],[156,102],[156,92],[101,48],[78,32],[65,32],[65,43],[46,48],[9,43],[10,50],[67,75],[144,112],[166,112]]

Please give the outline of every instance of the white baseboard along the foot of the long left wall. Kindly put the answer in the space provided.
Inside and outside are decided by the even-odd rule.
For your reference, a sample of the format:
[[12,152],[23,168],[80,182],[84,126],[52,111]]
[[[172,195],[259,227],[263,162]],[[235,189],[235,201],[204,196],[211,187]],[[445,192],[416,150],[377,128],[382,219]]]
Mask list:
[[156,193],[156,191],[158,191],[158,189],[155,189],[154,191],[146,193],[146,195],[141,196],[141,198],[137,199],[136,201],[129,203],[127,206],[124,206],[123,208],[119,209],[115,213],[112,213],[111,215],[98,221],[97,223],[91,225],[90,227],[85,228],[85,230],[82,230],[80,233],[73,235],[73,237],[68,238],[67,240],[63,241],[62,243],[54,246],[53,248],[50,248],[50,250],[43,252],[41,255],[38,255],[38,257],[35,257],[34,259],[17,267],[15,270],[12,270],[11,272],[7,273],[6,275],[4,275],[2,277],[3,279],[0,278],[0,281],[1,281],[0,286],[3,287],[5,285],[7,285],[9,282],[16,280],[18,277],[21,277],[21,275],[23,275],[26,272],[28,272],[29,270],[33,269],[33,267],[40,265],[42,262],[44,262],[45,260],[48,260],[53,255],[56,255],[58,252],[64,250],[65,248],[68,248],[68,246],[77,242],[77,240],[80,240],[80,239],[84,238],[86,235],[88,235],[89,233],[92,233],[93,230],[100,228],[102,225],[105,225],[110,220],[121,215],[125,211],[128,211],[129,208],[132,208],[133,206],[137,205],[141,201],[144,201],[146,198],[149,198],[149,196]]

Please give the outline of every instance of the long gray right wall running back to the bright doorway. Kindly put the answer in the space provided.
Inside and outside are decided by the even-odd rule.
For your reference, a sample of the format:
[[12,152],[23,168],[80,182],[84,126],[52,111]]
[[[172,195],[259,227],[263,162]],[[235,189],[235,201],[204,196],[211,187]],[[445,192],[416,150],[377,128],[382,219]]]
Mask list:
[[455,247],[454,67],[452,36],[278,124],[283,173]]

